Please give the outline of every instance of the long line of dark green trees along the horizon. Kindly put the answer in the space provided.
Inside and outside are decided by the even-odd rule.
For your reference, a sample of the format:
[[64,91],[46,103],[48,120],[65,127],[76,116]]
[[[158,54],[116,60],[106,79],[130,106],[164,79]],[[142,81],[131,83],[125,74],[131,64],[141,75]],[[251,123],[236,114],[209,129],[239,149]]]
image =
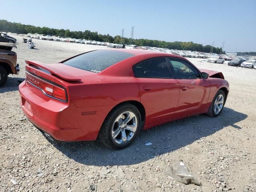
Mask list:
[[[138,46],[150,46],[150,47],[159,47],[159,48],[168,48],[168,49],[177,49],[177,50],[190,50],[198,52],[210,52],[212,46],[194,43],[194,42],[166,42],[161,40],[149,40],[149,39],[131,39],[131,38],[122,38],[120,35],[111,36],[109,34],[98,34],[98,32],[91,32],[90,30],[85,31],[70,31],[69,29],[54,29],[48,27],[37,27],[33,25],[25,25],[16,22],[8,22],[7,20],[0,20],[0,31],[2,32],[12,32],[17,34],[28,34],[28,33],[38,33],[38,34],[49,34],[54,36],[65,36],[68,38],[76,39],[87,39],[87,40],[96,40],[101,42],[110,42],[110,43],[124,43],[124,44],[136,44]],[[219,54],[220,52],[225,52],[222,48],[213,47],[213,52]]]

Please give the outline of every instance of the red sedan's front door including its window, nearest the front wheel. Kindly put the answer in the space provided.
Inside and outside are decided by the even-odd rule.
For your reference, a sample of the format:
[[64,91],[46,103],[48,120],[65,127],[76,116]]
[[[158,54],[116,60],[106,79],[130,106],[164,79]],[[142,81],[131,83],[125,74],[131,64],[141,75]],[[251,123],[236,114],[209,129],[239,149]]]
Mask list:
[[174,77],[180,84],[180,99],[174,118],[205,109],[210,94],[210,82],[200,78],[200,72],[186,60],[169,58]]

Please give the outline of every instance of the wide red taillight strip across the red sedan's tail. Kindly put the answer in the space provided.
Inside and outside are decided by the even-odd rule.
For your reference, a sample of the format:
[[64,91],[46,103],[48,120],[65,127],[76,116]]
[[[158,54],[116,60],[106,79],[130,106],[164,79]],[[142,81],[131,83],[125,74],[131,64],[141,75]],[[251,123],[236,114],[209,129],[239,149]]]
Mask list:
[[42,78],[31,74],[28,71],[26,71],[26,82],[40,89],[46,96],[63,102],[68,101],[66,89],[60,85],[55,84],[54,82],[43,80]]

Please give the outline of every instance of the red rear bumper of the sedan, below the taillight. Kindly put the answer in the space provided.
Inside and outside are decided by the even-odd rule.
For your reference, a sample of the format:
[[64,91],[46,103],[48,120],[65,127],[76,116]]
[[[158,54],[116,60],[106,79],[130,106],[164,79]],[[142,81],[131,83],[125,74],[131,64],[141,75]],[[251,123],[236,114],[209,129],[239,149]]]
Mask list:
[[[28,120],[59,141],[96,140],[106,115],[112,109],[112,106],[77,108],[73,102],[48,98],[37,88],[28,88],[25,82],[20,84],[19,91],[20,106]],[[84,112],[95,114],[82,115]]]

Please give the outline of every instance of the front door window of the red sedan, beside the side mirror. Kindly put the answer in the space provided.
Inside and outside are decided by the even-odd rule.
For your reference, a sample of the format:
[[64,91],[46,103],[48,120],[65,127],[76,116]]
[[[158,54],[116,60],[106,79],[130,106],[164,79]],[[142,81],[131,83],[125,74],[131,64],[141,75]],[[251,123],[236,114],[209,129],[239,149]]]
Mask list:
[[192,79],[199,78],[199,73],[188,62],[180,59],[169,58],[174,70],[174,77],[178,79]]

